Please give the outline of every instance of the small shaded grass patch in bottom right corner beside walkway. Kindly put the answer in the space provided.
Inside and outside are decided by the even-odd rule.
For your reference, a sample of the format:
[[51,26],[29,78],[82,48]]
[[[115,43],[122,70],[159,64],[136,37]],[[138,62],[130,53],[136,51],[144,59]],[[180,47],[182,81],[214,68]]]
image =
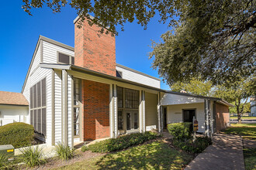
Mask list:
[[246,170],[256,169],[256,148],[244,148],[244,165]]

